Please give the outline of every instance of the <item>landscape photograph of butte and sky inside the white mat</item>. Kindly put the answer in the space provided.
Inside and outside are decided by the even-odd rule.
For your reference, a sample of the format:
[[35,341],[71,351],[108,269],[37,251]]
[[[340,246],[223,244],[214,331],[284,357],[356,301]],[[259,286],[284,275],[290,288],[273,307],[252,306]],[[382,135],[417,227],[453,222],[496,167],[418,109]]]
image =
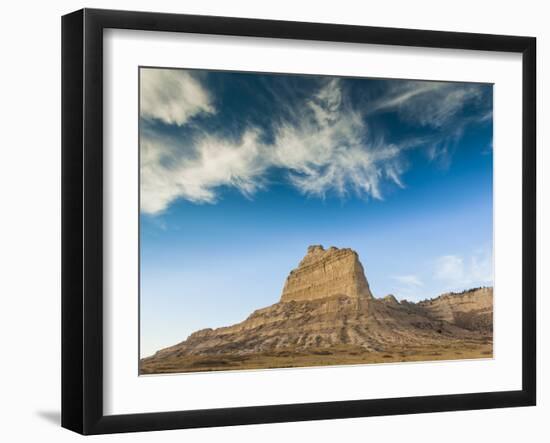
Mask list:
[[140,375],[493,358],[493,84],[137,74]]

